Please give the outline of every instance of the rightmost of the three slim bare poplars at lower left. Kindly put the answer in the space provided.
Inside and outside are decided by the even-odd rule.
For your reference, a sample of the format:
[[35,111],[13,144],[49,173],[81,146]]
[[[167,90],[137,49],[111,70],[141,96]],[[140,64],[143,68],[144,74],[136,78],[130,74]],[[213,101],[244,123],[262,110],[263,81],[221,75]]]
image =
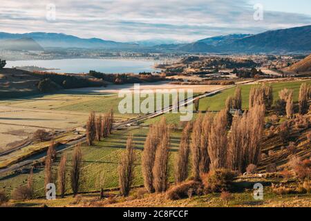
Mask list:
[[82,171],[82,151],[79,145],[73,149],[72,168],[70,171],[70,184],[73,195],[79,191],[80,177]]

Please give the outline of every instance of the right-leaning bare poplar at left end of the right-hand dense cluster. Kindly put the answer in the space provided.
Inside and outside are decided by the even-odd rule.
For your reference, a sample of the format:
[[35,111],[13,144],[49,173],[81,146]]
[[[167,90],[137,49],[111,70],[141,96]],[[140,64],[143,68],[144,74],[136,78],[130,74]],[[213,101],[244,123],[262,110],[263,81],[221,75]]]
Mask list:
[[182,131],[178,154],[175,163],[175,180],[177,183],[185,181],[188,177],[189,146],[191,122],[188,122]]

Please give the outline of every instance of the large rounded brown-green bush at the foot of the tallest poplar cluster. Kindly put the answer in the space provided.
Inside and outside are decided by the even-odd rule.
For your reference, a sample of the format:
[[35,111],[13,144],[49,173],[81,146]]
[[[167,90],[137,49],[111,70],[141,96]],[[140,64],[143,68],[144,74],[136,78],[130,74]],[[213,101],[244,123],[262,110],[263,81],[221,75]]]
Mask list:
[[236,177],[234,171],[228,169],[216,169],[202,175],[202,182],[205,189],[209,192],[226,191],[231,188],[232,182]]

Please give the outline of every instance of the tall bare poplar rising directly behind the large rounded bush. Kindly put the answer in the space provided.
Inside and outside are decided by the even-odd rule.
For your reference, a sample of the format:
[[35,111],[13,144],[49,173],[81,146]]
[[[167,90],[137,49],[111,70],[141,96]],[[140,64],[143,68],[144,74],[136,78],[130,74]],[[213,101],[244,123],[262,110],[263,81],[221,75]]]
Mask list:
[[227,166],[227,111],[218,113],[209,133],[209,158],[211,170]]

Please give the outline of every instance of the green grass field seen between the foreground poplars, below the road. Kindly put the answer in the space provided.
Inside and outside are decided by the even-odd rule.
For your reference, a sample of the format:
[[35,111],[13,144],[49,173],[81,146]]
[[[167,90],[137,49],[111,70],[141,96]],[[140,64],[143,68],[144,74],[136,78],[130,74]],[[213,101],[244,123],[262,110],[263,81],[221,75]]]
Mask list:
[[[99,186],[97,185],[100,178],[100,174],[104,174],[104,187],[105,189],[111,189],[118,186],[118,174],[117,166],[120,161],[120,157],[126,146],[127,135],[133,135],[133,142],[136,150],[136,168],[135,168],[135,181],[134,185],[139,186],[143,184],[140,158],[144,141],[149,129],[148,127],[129,129],[124,131],[114,131],[109,138],[102,142],[98,142],[95,146],[82,146],[83,153],[83,169],[82,169],[82,181],[81,189],[82,192],[98,191]],[[171,160],[170,160],[170,176],[173,181],[173,156],[175,155],[176,149],[180,142],[180,133],[171,133]],[[68,163],[67,163],[67,193],[70,191],[70,156],[72,150],[65,151]],[[58,155],[57,160],[53,164],[54,174],[57,174],[57,164],[61,155]],[[103,171],[103,172],[102,172]],[[0,177],[0,189],[6,191],[8,195],[13,189],[20,186],[21,184],[27,183],[27,174],[15,175],[13,173]],[[37,197],[44,196],[44,169],[36,169],[34,171],[35,180],[35,194]]]

